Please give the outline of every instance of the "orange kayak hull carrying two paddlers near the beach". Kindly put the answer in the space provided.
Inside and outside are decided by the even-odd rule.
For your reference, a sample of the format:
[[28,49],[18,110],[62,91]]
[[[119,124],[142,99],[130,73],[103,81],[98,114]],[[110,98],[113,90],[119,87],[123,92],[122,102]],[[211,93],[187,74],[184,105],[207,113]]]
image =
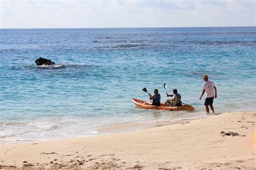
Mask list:
[[167,110],[167,111],[193,111],[194,110],[193,106],[187,105],[187,104],[182,105],[182,106],[170,107],[170,106],[163,106],[164,105],[163,103],[161,103],[160,106],[144,104],[147,101],[138,100],[138,99],[134,99],[134,98],[132,98],[132,101],[136,106],[142,107],[142,108],[147,108],[147,109],[157,109],[157,110]]

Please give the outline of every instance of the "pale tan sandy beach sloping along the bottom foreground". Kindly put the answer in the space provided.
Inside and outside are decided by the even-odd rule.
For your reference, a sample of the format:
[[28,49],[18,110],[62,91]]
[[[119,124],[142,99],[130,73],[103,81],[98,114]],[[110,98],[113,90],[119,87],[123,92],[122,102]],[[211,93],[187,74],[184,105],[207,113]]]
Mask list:
[[255,169],[255,112],[98,137],[1,144],[0,168]]

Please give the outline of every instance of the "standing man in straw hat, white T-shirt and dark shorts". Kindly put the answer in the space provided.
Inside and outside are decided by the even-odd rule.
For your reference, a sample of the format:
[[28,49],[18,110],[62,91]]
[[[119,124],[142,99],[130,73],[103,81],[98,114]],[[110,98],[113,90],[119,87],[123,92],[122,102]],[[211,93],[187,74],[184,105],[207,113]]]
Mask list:
[[217,89],[214,85],[214,83],[210,80],[208,80],[208,75],[204,74],[203,79],[205,81],[205,83],[202,85],[202,94],[201,97],[199,98],[201,100],[201,98],[204,96],[204,94],[206,93],[205,96],[205,110],[207,113],[209,113],[209,105],[211,107],[212,113],[214,113],[214,108],[212,106],[213,104],[213,98],[217,98]]

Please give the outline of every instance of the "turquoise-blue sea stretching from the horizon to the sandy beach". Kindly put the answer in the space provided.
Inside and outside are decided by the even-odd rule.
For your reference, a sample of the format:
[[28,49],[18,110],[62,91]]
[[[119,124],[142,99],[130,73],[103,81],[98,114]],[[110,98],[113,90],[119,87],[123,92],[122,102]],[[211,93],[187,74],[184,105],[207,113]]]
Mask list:
[[[255,111],[255,27],[0,30],[0,140],[98,135],[100,128],[205,118],[204,73],[217,114]],[[39,57],[55,66],[36,66]],[[178,89],[193,112],[144,110]]]

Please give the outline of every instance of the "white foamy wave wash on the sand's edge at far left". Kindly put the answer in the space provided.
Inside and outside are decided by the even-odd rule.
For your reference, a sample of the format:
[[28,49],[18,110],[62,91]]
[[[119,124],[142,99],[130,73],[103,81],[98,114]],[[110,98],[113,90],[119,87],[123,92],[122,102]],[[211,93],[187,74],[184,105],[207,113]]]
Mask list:
[[[87,124],[87,125],[86,125]],[[50,140],[97,135],[93,124],[79,118],[41,118],[26,123],[18,121],[2,122],[1,141]]]

